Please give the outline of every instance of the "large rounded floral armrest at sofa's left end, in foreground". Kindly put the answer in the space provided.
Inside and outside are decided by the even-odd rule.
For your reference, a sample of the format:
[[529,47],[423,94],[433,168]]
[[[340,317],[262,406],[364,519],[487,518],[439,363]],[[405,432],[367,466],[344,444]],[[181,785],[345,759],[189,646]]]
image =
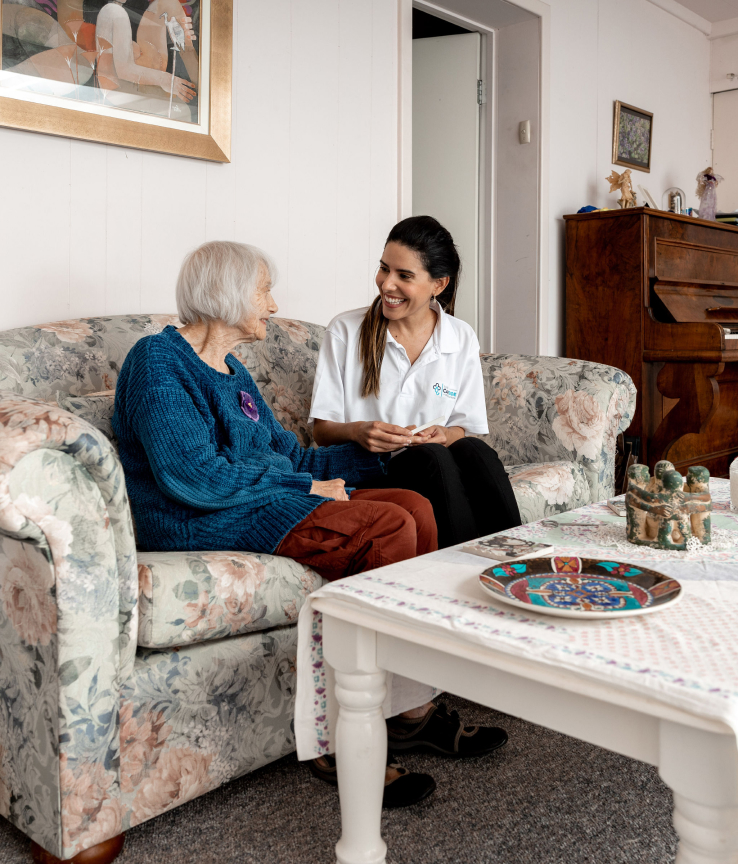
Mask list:
[[137,594],[110,443],[55,405],[0,394],[0,650],[15,679],[0,812],[62,859],[121,830],[119,694]]

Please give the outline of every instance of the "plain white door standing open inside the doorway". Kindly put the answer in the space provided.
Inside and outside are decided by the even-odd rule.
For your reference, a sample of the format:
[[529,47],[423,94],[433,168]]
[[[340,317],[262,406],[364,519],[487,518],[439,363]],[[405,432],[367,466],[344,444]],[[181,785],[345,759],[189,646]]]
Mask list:
[[478,331],[481,36],[413,40],[413,214],[434,216],[461,255],[456,316]]

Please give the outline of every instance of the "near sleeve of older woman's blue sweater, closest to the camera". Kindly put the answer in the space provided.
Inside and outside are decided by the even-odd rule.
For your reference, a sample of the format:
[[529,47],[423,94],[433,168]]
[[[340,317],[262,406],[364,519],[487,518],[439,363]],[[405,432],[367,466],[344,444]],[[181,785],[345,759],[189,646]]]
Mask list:
[[[157,485],[169,498],[202,510],[274,503],[309,495],[313,478],[277,453],[231,461],[218,452],[208,426],[184,388],[152,388],[131,417]],[[284,430],[283,430],[284,431]]]

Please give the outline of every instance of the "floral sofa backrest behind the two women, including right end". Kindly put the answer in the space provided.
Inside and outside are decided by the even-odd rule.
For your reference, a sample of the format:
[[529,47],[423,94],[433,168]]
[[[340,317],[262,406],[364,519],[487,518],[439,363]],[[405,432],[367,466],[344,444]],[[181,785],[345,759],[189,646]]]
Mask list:
[[[54,400],[111,390],[131,346],[174,315],[56,321],[0,332],[0,390]],[[272,318],[264,342],[235,352],[277,420],[307,447],[315,366],[325,328]],[[627,429],[636,393],[621,370],[585,360],[483,354],[490,431],[479,437],[504,465],[582,462],[592,500],[612,494],[615,438]],[[595,497],[596,496],[596,497]]]

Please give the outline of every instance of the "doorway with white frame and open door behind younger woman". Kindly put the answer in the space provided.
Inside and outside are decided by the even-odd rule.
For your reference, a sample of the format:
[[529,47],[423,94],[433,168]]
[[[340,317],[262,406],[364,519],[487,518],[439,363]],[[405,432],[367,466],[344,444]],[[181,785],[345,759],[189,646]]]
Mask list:
[[483,351],[546,353],[550,8],[400,2],[401,215],[427,212],[454,235],[458,314]]

